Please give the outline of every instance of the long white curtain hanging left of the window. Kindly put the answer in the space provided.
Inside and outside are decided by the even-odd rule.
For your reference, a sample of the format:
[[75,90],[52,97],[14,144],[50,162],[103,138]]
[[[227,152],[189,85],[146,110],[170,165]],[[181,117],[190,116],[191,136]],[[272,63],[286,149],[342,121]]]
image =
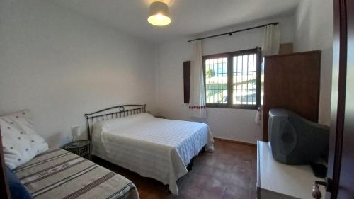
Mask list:
[[207,107],[205,103],[204,75],[202,71],[202,41],[193,41],[193,54],[190,62],[190,116],[205,118]]

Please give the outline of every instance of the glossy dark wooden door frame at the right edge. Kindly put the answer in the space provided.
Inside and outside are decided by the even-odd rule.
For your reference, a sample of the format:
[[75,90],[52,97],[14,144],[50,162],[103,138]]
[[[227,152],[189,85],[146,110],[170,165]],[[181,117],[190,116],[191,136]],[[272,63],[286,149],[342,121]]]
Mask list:
[[343,145],[343,126],[346,108],[347,72],[347,15],[346,0],[333,0],[333,67],[331,88],[331,130],[329,145],[329,169],[331,178],[326,198],[335,199],[338,195],[341,175],[341,156]]

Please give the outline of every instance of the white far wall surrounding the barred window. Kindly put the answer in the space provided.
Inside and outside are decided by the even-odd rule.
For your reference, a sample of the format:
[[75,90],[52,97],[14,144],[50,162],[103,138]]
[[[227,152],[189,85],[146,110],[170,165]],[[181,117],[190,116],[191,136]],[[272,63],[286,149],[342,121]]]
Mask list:
[[[275,21],[280,22],[281,41],[293,42],[294,21],[291,16],[237,25],[205,35],[224,33],[229,30],[239,30]],[[236,33],[232,37],[223,36],[203,40],[203,55],[261,47],[262,35],[263,28],[258,28]],[[188,39],[190,38],[181,38],[159,45],[156,55],[156,64],[159,67],[156,80],[156,89],[159,91],[159,97],[156,99],[156,103],[159,104],[158,112],[171,119],[192,120],[188,115],[188,106],[183,103],[183,61],[190,60],[192,55],[192,46],[187,42]],[[215,137],[251,143],[261,140],[261,126],[254,123],[256,110],[207,108],[207,111],[207,123]]]

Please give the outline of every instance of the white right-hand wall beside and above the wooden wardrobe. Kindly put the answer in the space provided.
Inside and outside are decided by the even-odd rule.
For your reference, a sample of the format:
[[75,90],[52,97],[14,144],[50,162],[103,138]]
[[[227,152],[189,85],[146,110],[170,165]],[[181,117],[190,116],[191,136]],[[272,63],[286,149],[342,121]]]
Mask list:
[[295,51],[321,50],[319,122],[330,123],[333,1],[301,0],[295,13]]

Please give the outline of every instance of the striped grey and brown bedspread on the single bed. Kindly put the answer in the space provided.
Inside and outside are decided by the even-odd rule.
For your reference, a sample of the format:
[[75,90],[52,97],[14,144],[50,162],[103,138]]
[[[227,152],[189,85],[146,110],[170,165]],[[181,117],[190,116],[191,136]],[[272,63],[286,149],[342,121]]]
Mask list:
[[62,149],[50,149],[13,170],[33,198],[132,198],[127,178]]

